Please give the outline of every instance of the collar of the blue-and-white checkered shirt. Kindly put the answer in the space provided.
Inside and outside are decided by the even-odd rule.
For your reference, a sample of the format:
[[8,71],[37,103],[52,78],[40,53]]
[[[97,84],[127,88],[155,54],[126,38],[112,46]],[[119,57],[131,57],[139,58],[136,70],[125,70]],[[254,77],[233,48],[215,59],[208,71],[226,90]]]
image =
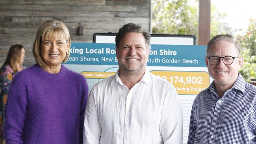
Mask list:
[[[243,93],[245,92],[245,80],[243,79],[243,77],[240,73],[238,73],[238,77],[236,79],[236,82],[231,87],[231,89],[237,89],[237,90],[240,90]],[[209,92],[215,92],[215,83],[214,83],[214,81],[206,89],[206,93],[208,94]]]

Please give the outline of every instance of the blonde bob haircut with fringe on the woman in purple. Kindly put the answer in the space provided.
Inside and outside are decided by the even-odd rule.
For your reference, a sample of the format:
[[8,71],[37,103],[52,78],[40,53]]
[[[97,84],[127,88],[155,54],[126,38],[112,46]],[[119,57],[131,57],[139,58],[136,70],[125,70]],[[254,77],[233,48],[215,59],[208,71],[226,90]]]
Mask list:
[[[67,29],[66,25],[63,22],[60,22],[59,20],[47,20],[37,30],[37,35],[35,37],[35,41],[33,44],[33,55],[35,57],[35,61],[40,66],[46,65],[45,60],[41,55],[42,42],[44,40],[57,36],[63,37],[64,39],[66,39],[67,42],[69,41],[69,45],[71,44],[69,30]],[[62,63],[65,63],[69,58],[69,52],[70,48]]]

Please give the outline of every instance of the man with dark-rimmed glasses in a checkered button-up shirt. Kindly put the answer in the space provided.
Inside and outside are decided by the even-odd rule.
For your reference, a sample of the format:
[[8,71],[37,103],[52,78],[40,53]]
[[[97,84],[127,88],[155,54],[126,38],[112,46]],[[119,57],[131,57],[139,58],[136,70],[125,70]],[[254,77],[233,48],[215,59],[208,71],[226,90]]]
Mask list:
[[241,45],[232,35],[207,44],[211,85],[195,98],[188,144],[256,144],[256,87],[245,82]]

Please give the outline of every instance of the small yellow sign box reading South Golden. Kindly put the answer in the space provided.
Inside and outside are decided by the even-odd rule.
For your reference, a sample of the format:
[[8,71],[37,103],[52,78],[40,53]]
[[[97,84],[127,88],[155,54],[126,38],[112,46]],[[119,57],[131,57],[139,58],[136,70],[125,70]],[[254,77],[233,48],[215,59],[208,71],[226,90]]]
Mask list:
[[113,76],[116,72],[81,72],[87,79],[106,79]]

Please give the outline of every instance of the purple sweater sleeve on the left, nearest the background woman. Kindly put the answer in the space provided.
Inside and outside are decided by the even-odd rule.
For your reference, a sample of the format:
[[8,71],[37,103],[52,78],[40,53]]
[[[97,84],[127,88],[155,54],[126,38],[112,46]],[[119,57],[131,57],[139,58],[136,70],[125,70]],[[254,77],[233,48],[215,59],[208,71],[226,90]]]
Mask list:
[[6,103],[5,134],[6,144],[23,144],[24,121],[26,118],[27,92],[26,84],[18,73],[10,86]]

